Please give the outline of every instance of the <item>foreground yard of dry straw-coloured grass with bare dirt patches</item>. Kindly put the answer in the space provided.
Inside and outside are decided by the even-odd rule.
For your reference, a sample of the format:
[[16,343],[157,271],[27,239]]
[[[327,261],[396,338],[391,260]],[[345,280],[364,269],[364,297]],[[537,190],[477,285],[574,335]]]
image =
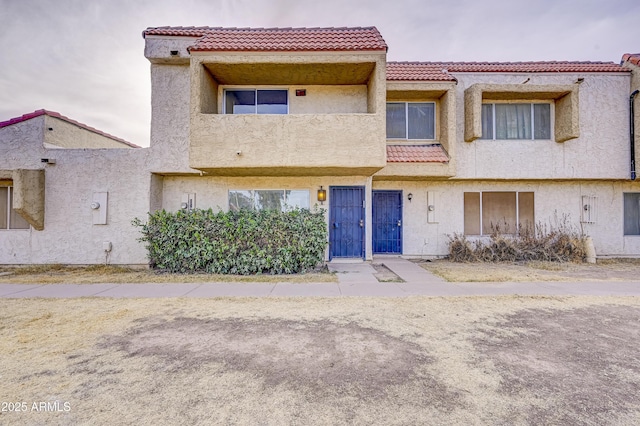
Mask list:
[[640,298],[3,299],[0,424],[631,425],[639,353]]

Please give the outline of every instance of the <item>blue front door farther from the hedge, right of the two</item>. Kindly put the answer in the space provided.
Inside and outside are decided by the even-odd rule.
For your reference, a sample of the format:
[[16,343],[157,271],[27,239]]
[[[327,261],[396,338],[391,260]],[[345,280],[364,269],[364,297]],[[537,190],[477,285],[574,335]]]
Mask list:
[[373,253],[402,254],[402,191],[373,191]]

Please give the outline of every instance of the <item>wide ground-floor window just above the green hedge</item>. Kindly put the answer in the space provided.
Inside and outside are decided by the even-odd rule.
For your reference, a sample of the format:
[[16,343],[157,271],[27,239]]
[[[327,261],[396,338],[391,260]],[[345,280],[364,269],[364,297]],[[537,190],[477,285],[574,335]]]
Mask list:
[[309,191],[297,189],[229,190],[229,210],[290,211],[309,208]]

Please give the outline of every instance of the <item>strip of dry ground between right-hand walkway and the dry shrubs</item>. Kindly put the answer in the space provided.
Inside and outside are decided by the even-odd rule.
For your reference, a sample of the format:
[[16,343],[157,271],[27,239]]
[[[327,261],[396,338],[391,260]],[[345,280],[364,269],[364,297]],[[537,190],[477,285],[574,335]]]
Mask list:
[[596,264],[416,261],[450,282],[640,281],[640,259],[602,259]]

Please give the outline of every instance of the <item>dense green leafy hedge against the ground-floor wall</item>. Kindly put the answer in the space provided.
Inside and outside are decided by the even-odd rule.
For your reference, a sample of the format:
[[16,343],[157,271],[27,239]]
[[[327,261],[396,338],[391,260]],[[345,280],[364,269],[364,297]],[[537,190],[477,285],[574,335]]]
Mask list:
[[171,272],[299,273],[321,265],[327,246],[322,210],[159,210],[133,225],[151,267]]

